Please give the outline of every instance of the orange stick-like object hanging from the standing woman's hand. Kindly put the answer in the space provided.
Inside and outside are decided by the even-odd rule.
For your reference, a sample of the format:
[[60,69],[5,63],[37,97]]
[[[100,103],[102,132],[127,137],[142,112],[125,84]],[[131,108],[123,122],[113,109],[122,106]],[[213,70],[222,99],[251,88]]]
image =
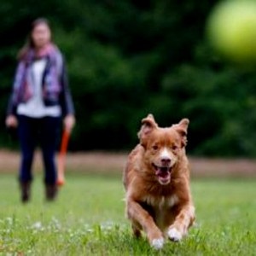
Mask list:
[[70,132],[67,130],[63,131],[61,137],[61,150],[58,155],[58,163],[57,163],[57,185],[62,186],[65,183],[65,162],[67,155],[67,143],[70,137]]

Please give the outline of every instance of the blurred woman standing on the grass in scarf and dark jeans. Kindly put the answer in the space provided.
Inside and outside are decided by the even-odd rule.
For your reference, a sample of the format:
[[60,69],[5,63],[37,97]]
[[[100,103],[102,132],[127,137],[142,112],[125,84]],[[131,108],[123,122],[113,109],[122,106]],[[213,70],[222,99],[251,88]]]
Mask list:
[[37,143],[43,153],[46,199],[52,201],[57,193],[55,147],[61,119],[63,129],[71,131],[75,118],[65,63],[51,40],[48,20],[32,22],[18,61],[5,122],[8,127],[18,127],[21,201],[31,197],[32,160]]

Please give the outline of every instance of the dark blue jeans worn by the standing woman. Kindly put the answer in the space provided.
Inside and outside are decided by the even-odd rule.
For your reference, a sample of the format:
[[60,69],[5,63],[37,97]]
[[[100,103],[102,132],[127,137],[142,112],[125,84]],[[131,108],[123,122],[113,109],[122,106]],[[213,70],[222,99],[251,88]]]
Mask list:
[[19,116],[19,139],[21,163],[19,180],[21,183],[32,181],[32,160],[38,143],[44,160],[44,183],[56,183],[55,149],[59,139],[61,119],[55,117],[29,118]]

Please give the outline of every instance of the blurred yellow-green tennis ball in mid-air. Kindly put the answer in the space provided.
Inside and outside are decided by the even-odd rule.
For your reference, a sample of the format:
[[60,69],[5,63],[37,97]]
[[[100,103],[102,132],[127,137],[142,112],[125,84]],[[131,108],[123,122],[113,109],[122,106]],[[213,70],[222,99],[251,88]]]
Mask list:
[[207,35],[230,61],[256,62],[256,0],[218,3],[207,20]]

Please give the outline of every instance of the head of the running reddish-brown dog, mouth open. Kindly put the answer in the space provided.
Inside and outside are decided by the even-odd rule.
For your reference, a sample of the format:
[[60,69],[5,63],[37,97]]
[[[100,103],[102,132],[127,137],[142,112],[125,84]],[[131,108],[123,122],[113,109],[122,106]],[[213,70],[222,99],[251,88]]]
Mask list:
[[154,174],[161,185],[171,181],[172,169],[187,144],[188,125],[189,119],[182,119],[177,125],[161,128],[152,114],[142,120],[138,137],[145,149],[144,160],[150,175]]

